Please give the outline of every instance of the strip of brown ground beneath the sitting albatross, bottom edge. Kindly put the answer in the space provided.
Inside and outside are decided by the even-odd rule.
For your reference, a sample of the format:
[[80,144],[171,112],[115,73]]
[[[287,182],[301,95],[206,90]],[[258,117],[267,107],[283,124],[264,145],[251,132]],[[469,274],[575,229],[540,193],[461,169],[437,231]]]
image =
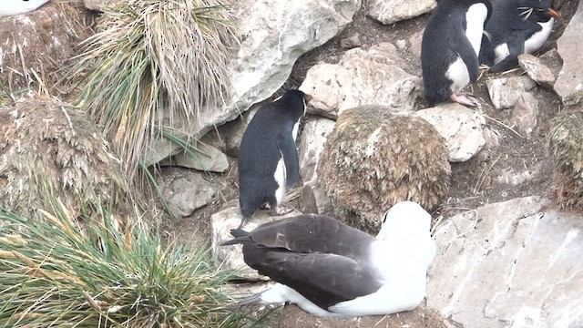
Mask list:
[[453,324],[435,310],[420,305],[414,311],[356,319],[322,318],[305,313],[295,304],[281,312],[279,328],[446,328]]

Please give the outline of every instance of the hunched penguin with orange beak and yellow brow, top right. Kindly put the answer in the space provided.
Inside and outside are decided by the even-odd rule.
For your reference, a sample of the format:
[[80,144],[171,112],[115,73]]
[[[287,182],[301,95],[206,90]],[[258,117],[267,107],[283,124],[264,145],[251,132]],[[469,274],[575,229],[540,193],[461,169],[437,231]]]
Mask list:
[[486,23],[480,63],[490,71],[504,72],[518,66],[518,55],[531,54],[547,42],[558,13],[548,0],[498,0]]

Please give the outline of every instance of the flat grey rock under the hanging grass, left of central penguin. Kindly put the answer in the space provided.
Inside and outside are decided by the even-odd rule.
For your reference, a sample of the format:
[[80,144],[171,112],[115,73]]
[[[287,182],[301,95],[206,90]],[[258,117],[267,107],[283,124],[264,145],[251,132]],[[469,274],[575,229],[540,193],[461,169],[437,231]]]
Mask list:
[[179,166],[182,168],[220,173],[229,169],[229,159],[219,149],[203,143],[196,143],[193,147],[198,149],[198,151],[194,149],[190,150],[196,156],[195,158],[192,158],[184,152],[180,152],[169,159],[160,161],[160,166]]

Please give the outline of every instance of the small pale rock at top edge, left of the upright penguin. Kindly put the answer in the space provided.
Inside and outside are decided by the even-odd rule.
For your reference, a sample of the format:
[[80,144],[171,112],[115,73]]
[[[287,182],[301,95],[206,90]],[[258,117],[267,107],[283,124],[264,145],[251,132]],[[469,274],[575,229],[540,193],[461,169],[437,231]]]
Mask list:
[[435,0],[371,0],[367,15],[387,25],[428,13],[436,5]]

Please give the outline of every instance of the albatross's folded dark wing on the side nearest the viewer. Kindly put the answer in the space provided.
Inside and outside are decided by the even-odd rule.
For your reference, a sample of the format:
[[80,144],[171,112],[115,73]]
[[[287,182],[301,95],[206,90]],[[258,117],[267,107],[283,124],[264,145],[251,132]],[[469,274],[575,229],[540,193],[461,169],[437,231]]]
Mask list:
[[300,292],[324,310],[381,287],[358,262],[340,255],[295,253],[246,243],[243,256],[260,274]]

